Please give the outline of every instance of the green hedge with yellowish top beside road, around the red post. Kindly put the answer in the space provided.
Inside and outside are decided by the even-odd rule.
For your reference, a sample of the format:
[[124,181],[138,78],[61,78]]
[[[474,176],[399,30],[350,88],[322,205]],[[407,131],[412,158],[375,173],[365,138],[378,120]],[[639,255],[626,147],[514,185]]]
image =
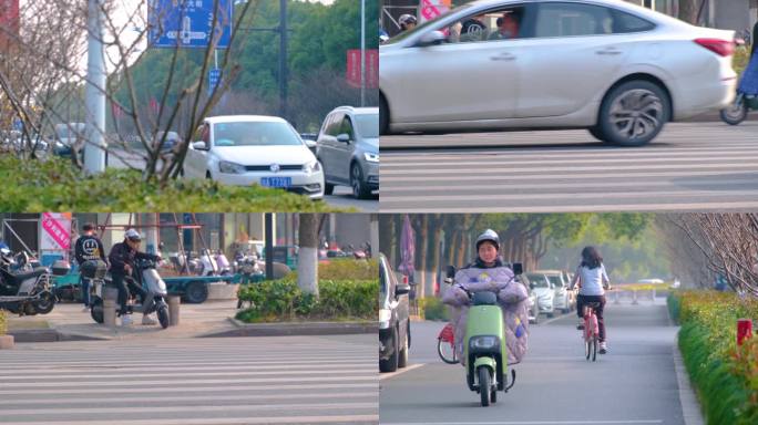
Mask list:
[[708,424],[758,424],[758,338],[737,348],[737,319],[758,318],[758,300],[715,291],[676,291],[672,318]]

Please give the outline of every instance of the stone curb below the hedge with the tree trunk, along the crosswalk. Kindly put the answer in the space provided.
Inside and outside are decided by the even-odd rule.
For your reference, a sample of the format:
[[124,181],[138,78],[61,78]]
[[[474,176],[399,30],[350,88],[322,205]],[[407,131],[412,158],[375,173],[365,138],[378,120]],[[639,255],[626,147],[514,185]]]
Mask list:
[[289,335],[346,335],[357,333],[379,333],[376,322],[303,322],[303,323],[243,323],[228,318],[234,330],[215,332],[198,338],[227,336],[289,336]]

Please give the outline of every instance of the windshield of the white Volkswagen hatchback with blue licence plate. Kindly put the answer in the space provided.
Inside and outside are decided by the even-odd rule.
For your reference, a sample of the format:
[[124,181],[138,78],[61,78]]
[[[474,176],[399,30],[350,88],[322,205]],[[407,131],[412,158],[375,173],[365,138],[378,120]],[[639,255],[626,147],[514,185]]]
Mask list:
[[236,122],[214,124],[214,146],[297,146],[303,141],[281,122]]

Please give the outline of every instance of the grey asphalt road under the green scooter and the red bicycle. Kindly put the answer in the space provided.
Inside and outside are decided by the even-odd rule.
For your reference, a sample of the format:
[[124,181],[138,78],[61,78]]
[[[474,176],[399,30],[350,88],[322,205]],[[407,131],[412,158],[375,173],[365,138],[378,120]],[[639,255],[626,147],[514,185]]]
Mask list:
[[467,387],[463,367],[437,356],[443,323],[412,323],[409,367],[380,377],[381,424],[684,424],[673,357],[677,328],[663,302],[608,303],[610,353],[595,363],[584,359],[576,320],[531,325],[515,386],[489,407]]

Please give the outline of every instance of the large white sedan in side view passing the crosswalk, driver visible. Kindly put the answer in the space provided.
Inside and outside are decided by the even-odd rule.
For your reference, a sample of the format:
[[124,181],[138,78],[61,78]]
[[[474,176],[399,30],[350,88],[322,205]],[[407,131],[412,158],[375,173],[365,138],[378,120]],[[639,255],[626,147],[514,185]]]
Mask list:
[[479,0],[379,48],[380,129],[586,128],[639,146],[727,106],[734,31],[615,0]]

